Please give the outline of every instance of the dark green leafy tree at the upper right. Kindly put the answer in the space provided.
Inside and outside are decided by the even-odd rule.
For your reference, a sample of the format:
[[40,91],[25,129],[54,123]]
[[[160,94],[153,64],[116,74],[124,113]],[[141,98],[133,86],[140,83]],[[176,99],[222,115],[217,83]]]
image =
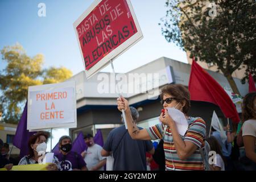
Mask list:
[[[214,6],[208,7],[209,2]],[[234,71],[246,68],[243,82],[249,72],[256,78],[255,1],[167,0],[166,6],[160,24],[168,42],[189,51],[190,57],[217,65],[234,93],[240,94]]]

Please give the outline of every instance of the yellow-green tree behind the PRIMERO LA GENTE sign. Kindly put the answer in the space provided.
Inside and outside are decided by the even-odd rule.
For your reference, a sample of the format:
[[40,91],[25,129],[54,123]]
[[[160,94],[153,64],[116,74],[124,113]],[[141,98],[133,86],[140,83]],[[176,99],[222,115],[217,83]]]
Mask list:
[[43,69],[44,56],[30,57],[20,44],[1,50],[6,67],[0,72],[0,113],[3,122],[18,123],[28,86],[56,83],[72,76],[67,68]]

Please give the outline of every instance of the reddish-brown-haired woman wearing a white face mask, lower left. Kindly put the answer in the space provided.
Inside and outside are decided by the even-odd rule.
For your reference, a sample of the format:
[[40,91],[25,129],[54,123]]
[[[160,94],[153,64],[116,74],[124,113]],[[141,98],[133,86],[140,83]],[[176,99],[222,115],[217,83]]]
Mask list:
[[[32,135],[28,140],[29,154],[20,159],[18,165],[27,165],[27,164],[38,164],[40,163],[40,157],[43,154],[46,154],[47,149],[47,140],[49,138],[49,133],[45,131],[39,131],[38,133]],[[13,167],[13,164],[6,166],[7,170],[10,170]],[[59,170],[60,164],[59,160],[54,157],[51,164],[48,164],[46,169],[48,171],[57,171]]]

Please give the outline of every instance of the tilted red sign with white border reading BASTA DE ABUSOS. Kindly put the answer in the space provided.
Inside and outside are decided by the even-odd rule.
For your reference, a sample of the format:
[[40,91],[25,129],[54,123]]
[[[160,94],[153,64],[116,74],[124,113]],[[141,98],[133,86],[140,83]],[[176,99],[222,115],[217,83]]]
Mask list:
[[73,26],[88,78],[143,37],[129,0],[96,0]]

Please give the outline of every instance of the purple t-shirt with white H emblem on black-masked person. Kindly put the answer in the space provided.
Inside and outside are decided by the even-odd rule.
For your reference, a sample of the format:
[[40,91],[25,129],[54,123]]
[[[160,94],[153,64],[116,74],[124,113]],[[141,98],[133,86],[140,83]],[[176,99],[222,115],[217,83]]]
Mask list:
[[70,151],[67,155],[57,154],[56,157],[60,162],[61,171],[72,171],[72,169],[81,169],[86,167],[86,163],[80,154]]

